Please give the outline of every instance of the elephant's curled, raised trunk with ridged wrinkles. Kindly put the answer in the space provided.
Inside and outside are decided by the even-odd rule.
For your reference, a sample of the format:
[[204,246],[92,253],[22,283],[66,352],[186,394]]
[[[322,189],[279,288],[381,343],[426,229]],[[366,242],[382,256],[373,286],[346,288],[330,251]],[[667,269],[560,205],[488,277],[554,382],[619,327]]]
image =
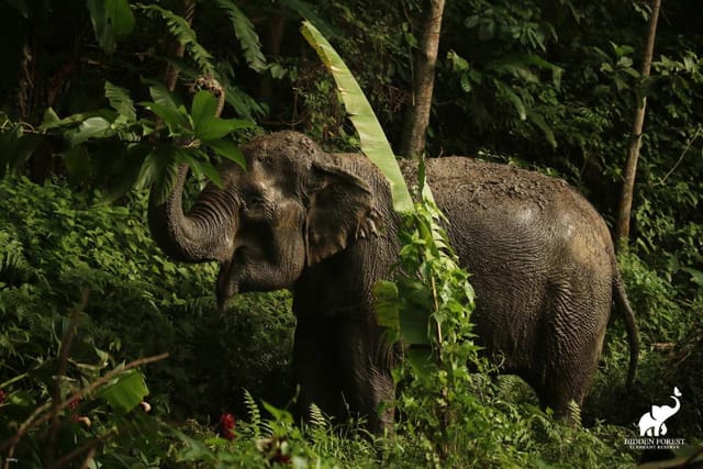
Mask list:
[[188,165],[180,165],[176,187],[163,202],[158,189],[149,194],[148,223],[152,236],[167,256],[187,263],[223,261],[234,245],[234,198],[209,185],[188,214],[183,213],[183,186]]

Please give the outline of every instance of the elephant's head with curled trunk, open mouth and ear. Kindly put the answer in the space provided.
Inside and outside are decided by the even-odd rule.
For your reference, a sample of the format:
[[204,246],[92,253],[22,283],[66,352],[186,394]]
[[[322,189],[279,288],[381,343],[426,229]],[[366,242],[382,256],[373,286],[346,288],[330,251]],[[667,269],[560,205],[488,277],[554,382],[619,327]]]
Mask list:
[[163,203],[153,190],[148,220],[158,246],[178,260],[220,263],[220,306],[238,292],[291,288],[306,267],[375,232],[369,185],[294,132],[242,146],[246,169],[226,163],[223,188],[210,183],[188,213],[188,167]]

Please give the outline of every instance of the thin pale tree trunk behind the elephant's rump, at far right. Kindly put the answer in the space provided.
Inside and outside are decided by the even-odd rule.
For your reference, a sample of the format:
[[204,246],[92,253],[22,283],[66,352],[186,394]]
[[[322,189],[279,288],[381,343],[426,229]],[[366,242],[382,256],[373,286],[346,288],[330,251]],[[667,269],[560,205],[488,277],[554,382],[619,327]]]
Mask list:
[[[657,21],[661,0],[652,0],[651,16],[649,18],[649,33],[647,34],[647,45],[645,47],[644,60],[641,64],[641,78],[649,76],[651,68],[651,56],[655,51],[655,36],[657,34]],[[641,130],[645,123],[645,110],[647,109],[647,97],[641,97],[635,112],[633,130],[629,137],[629,148],[627,149],[627,161],[625,163],[625,180],[623,182],[623,194],[620,200],[620,211],[617,214],[617,226],[615,228],[615,241],[618,248],[627,247],[629,237],[629,219],[633,208],[633,193],[635,191],[635,176],[637,174],[637,160],[639,159],[639,147],[641,145]]]

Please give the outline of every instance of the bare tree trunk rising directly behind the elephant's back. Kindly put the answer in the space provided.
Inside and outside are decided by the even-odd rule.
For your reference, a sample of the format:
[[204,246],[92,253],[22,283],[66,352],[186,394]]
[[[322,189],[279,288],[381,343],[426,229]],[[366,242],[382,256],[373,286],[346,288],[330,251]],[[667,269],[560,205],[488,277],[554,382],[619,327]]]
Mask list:
[[401,155],[416,156],[425,150],[444,2],[445,0],[426,0],[422,40],[414,59],[412,102],[405,113]]

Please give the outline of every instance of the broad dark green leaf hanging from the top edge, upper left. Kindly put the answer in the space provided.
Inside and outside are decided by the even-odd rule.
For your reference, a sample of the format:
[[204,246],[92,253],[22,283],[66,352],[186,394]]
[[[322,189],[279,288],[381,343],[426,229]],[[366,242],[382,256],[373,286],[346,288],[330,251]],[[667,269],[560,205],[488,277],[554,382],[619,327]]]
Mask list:
[[96,37],[100,47],[112,54],[116,40],[134,30],[134,13],[127,0],[87,0]]

